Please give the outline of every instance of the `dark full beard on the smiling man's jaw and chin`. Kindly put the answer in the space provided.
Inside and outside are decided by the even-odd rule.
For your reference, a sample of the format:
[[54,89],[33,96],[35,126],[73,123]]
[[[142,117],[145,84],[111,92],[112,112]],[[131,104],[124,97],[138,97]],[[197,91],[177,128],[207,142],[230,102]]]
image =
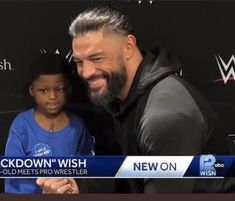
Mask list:
[[93,104],[106,108],[116,97],[120,89],[126,83],[127,72],[124,63],[119,58],[119,71],[111,71],[111,73],[102,73],[103,79],[106,79],[106,88],[103,92],[91,90],[88,87],[88,95]]

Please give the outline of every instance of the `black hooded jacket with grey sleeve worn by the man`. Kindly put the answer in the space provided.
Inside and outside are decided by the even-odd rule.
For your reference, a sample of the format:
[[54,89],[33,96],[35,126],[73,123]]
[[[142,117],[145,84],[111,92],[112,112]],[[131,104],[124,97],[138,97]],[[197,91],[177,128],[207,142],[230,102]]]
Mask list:
[[[108,111],[123,155],[227,155],[216,115],[205,99],[180,76],[179,64],[164,49],[144,55],[125,101]],[[199,78],[200,79],[200,78]],[[131,179],[132,193],[232,191],[222,179]]]

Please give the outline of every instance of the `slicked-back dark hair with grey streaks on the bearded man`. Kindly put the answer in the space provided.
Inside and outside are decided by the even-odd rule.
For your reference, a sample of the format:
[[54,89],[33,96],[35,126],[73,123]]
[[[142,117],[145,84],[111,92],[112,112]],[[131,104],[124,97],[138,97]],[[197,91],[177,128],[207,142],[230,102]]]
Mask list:
[[69,33],[72,37],[89,31],[114,31],[122,35],[133,33],[133,28],[126,15],[109,7],[88,9],[80,13],[71,23]]

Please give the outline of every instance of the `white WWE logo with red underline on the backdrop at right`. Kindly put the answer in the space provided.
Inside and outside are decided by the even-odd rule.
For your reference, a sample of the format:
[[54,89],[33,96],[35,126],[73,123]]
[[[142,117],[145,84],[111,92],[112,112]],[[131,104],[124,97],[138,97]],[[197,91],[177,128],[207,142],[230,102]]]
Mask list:
[[[228,63],[225,63],[224,60],[220,57],[220,55],[215,55],[215,59],[219,66],[219,70],[222,75],[224,84],[226,84],[228,80],[235,81],[235,71],[234,71],[235,56],[232,55]],[[220,80],[215,80],[215,81],[220,81]]]

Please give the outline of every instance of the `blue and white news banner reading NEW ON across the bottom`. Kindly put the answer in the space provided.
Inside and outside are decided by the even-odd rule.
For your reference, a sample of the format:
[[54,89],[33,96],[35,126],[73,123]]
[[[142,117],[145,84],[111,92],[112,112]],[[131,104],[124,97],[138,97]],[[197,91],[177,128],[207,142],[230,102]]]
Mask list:
[[235,156],[3,157],[1,178],[235,177]]

